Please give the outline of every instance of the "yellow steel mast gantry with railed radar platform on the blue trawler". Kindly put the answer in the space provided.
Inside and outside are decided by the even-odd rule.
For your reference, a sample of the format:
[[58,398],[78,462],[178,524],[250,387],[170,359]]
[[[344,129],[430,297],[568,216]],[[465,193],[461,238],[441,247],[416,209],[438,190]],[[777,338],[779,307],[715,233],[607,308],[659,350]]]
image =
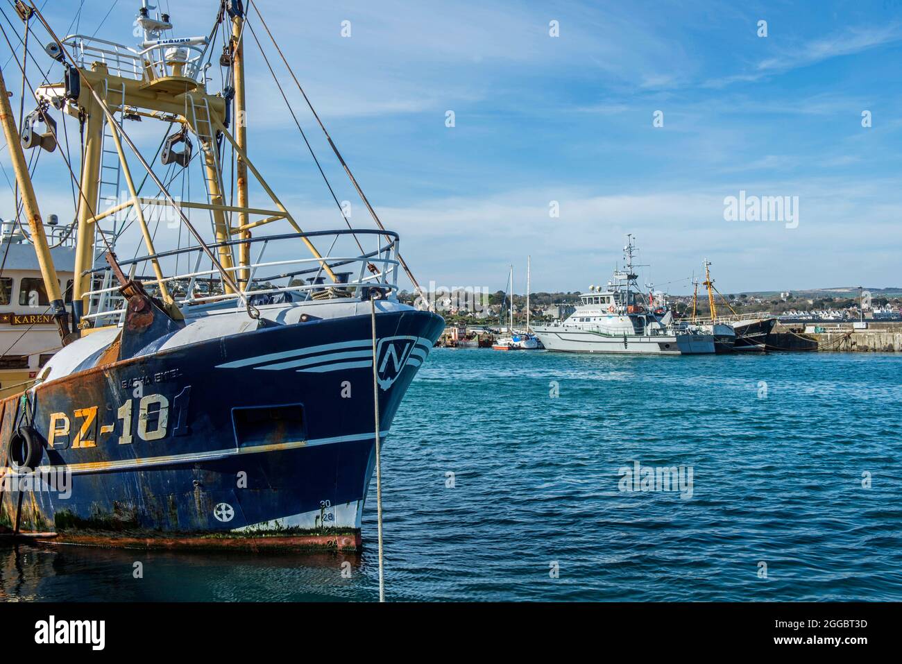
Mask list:
[[[52,32],[40,12],[36,8],[33,10],[53,39],[52,45],[55,48],[48,49],[48,52],[67,69],[64,81],[45,83],[34,90],[34,95],[39,104],[52,105],[77,118],[82,124],[84,137],[78,182],[78,248],[73,286],[73,309],[77,319],[88,311],[97,309],[100,301],[104,300],[92,300],[89,295],[95,287],[91,273],[98,255],[96,236],[103,233],[100,222],[113,224],[113,232],[110,234],[112,243],[106,240],[106,236],[104,238],[107,250],[111,250],[125,226],[122,217],[133,214],[147,253],[153,256],[157,252],[153,244],[154,234],[148,224],[148,213],[159,219],[160,209],[157,209],[155,215],[152,213],[156,208],[174,208],[177,217],[180,217],[201,245],[205,245],[204,240],[190,224],[185,210],[207,211],[212,219],[216,242],[216,253],[209,258],[220,272],[222,288],[226,294],[238,294],[244,299],[241,291],[248,287],[250,278],[248,266],[251,262],[251,244],[235,245],[233,238],[237,236],[251,240],[253,228],[279,220],[287,221],[300,235],[301,242],[318,259],[321,271],[327,278],[336,283],[338,281],[331,266],[310,239],[303,235],[288,208],[281,203],[248,156],[244,92],[244,9],[242,3],[234,1],[226,2],[224,8],[226,12],[220,13],[219,21],[224,21],[225,14],[228,15],[231,37],[223,60],[231,68],[234,87],[217,93],[209,92],[206,86],[208,65],[204,65],[204,61],[210,40],[207,37],[164,38],[164,34],[172,30],[170,16],[152,16],[147,0],[143,0],[136,21],[143,31],[143,42],[137,50],[86,35],[75,34],[60,39]],[[235,114],[230,107],[233,99]],[[174,164],[186,170],[189,168],[192,143],[188,135],[193,134],[202,156],[207,200],[176,201],[124,131],[125,118],[150,118],[180,125],[178,131],[164,141],[164,165]],[[233,123],[234,136],[229,130]],[[179,143],[185,143],[183,152],[175,150]],[[224,144],[231,145],[235,153],[235,205],[226,202],[221,158],[221,147]],[[161,196],[139,196],[140,188],[135,186],[124,145],[141,162],[147,176],[159,187]],[[250,207],[248,173],[253,175],[256,184],[270,198],[271,206]],[[120,194],[119,189],[123,183],[127,190]],[[235,219],[235,225],[230,223],[230,219]],[[115,254],[113,257],[115,258]],[[156,259],[152,259],[151,264],[161,300],[171,304],[172,298],[163,281],[161,265]]]

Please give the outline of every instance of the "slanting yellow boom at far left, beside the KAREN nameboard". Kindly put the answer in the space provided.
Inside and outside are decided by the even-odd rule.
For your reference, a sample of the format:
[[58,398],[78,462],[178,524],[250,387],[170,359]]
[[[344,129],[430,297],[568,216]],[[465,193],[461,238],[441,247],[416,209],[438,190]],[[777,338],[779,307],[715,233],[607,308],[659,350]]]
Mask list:
[[9,146],[10,161],[13,162],[15,180],[22,192],[23,208],[28,226],[32,231],[32,244],[34,252],[38,256],[38,264],[41,267],[41,277],[48,298],[51,300],[51,315],[60,329],[60,338],[63,344],[75,340],[75,336],[69,331],[69,314],[60,293],[60,280],[57,277],[56,267],[53,265],[50,245],[47,244],[47,235],[44,235],[44,222],[41,219],[41,210],[38,208],[38,200],[34,196],[32,179],[28,174],[28,162],[25,161],[25,153],[19,132],[15,127],[13,108],[9,103],[9,93],[6,92],[6,81],[3,71],[0,70],[0,124],[6,136],[6,145]]

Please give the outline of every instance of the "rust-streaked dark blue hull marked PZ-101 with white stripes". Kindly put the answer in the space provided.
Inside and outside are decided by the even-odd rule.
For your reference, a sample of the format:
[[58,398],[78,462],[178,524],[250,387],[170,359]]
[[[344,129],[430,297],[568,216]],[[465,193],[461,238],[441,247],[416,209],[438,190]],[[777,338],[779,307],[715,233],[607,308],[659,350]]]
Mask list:
[[[376,318],[384,434],[444,321]],[[39,474],[70,473],[68,497],[59,485],[23,493],[21,528],[163,543],[359,533],[372,358],[369,316],[317,319],[86,366],[28,404],[7,400],[3,439],[30,423],[44,443]],[[18,496],[4,492],[7,523]]]

